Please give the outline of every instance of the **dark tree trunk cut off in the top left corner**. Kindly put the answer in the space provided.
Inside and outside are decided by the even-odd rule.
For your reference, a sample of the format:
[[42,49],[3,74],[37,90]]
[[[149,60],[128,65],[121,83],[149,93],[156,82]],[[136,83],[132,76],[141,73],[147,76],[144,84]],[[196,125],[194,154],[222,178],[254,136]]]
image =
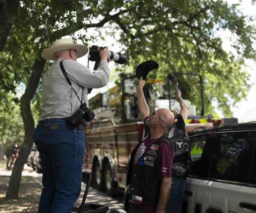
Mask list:
[[19,0],[4,0],[0,2],[0,51],[4,48],[19,5]]

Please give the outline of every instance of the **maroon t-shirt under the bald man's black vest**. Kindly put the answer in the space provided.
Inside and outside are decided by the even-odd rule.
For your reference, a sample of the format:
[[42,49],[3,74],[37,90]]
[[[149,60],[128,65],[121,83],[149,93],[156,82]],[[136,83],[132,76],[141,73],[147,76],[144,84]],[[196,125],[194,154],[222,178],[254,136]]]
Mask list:
[[[150,128],[145,124],[146,120],[149,117],[146,117],[144,120],[144,128],[145,128],[145,135],[150,131]],[[147,139],[144,141],[144,144],[141,144],[143,148],[150,148],[152,144],[154,144],[157,139]],[[145,146],[145,147],[144,147]],[[137,152],[140,152],[140,147],[138,148]],[[138,154],[136,152],[136,154]],[[136,155],[135,154],[135,155]],[[173,161],[174,153],[168,143],[162,142],[158,147],[158,159],[157,159],[157,167],[158,167],[158,178],[161,179],[162,176],[171,177],[172,176],[172,161]],[[135,163],[135,162],[134,162]],[[157,209],[157,205],[148,205],[143,206],[140,204],[131,203],[132,206],[136,207],[137,209],[143,211],[144,213],[154,213]]]

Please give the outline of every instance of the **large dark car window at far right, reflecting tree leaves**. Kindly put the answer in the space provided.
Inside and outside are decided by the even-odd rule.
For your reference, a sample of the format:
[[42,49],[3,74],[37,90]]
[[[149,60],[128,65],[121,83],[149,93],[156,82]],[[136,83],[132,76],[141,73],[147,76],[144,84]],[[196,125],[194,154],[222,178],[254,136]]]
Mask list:
[[212,156],[210,178],[249,183],[252,148],[248,132],[219,133]]

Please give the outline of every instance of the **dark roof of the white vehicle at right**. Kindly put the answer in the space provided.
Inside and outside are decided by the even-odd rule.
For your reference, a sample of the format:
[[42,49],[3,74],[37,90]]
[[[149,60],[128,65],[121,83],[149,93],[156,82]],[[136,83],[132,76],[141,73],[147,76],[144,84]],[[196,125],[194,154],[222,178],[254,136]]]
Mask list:
[[229,131],[245,131],[245,130],[254,130],[256,131],[256,121],[246,122],[239,124],[223,125],[223,126],[214,126],[211,128],[205,128],[203,130],[196,130],[190,134],[190,136],[203,134],[203,133],[218,133],[218,132],[229,132]]

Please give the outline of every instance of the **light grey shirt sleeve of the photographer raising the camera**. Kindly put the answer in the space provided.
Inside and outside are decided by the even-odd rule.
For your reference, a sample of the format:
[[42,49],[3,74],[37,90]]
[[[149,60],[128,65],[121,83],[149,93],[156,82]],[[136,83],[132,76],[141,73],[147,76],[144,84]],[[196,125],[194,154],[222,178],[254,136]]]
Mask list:
[[92,70],[77,61],[64,60],[64,69],[70,80],[87,88],[100,88],[108,84],[110,69],[106,60],[101,60],[97,70]]

